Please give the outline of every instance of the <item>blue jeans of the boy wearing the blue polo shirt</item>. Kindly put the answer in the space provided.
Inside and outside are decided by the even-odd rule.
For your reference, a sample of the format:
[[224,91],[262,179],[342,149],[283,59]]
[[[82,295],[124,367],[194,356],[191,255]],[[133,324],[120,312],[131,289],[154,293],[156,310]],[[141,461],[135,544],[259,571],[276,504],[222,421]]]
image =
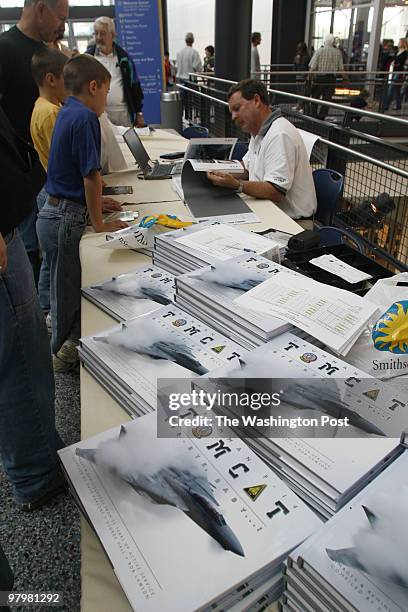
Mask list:
[[37,234],[50,270],[51,350],[81,335],[81,263],[79,242],[86,226],[86,207],[60,199],[47,200],[37,220]]

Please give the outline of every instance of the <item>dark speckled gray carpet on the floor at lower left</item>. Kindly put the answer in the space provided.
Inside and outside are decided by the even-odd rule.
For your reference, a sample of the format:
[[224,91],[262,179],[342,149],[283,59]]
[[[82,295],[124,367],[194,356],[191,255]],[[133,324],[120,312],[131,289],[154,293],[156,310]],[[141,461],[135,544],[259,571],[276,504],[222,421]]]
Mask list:
[[[67,445],[80,438],[79,375],[56,374],[56,421]],[[13,501],[0,466],[0,542],[14,571],[15,591],[61,592],[64,612],[80,609],[79,512],[68,495],[26,514]],[[54,608],[13,607],[12,610]]]

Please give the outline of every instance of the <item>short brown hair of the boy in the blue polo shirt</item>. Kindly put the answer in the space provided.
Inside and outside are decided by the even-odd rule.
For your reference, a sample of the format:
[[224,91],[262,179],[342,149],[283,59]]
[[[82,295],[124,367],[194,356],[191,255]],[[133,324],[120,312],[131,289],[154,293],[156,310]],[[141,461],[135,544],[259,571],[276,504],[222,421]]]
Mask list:
[[64,67],[65,88],[74,96],[79,95],[91,81],[98,87],[110,81],[110,72],[92,55],[83,53],[72,57]]

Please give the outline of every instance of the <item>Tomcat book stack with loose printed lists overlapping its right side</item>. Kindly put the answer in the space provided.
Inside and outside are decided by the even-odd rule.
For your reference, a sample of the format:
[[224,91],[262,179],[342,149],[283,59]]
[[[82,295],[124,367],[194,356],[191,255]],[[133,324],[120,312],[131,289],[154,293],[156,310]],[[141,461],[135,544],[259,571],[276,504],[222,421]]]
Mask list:
[[[179,306],[247,349],[290,329],[289,323],[238,307],[234,300],[285,270],[261,255],[244,254],[176,277]],[[296,277],[296,272],[291,272]]]

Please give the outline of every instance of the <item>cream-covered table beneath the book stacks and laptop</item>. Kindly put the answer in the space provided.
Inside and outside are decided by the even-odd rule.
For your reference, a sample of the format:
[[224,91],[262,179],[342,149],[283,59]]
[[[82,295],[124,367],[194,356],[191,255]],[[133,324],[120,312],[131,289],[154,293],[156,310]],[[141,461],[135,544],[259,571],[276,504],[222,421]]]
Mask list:
[[[160,152],[183,150],[186,143],[180,136],[163,131],[144,139],[152,158]],[[139,202],[130,209],[139,210],[141,216],[158,212],[183,216],[188,214],[184,203],[178,199],[175,192],[171,191],[172,197],[167,197],[168,190],[171,190],[170,180],[143,181],[137,178],[137,172],[134,170],[107,175],[104,180],[108,185],[132,185],[133,196],[121,196],[121,201]],[[273,227],[293,234],[302,231],[295,221],[272,202],[253,198],[247,198],[247,201],[261,223],[243,225],[242,229],[259,231]],[[88,233],[82,238],[80,254],[84,286],[128,272],[150,261],[145,255],[130,250],[100,249],[98,245],[104,241],[104,234]],[[82,300],[82,335],[93,334],[114,324],[115,321],[109,315],[91,302]],[[86,439],[129,420],[128,414],[81,368],[81,438]],[[81,555],[82,611],[129,612],[131,608],[125,594],[94,532],[85,520],[82,520]]]

